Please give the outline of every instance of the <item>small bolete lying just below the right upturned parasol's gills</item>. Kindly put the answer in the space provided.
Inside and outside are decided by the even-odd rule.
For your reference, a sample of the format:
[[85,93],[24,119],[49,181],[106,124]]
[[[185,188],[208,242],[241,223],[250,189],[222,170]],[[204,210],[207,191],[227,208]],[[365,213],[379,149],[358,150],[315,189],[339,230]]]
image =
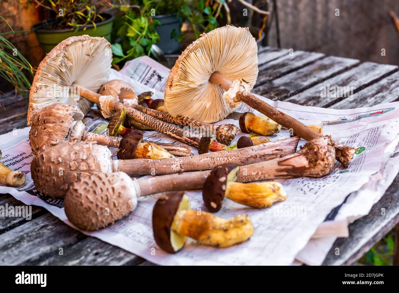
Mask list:
[[249,133],[253,131],[263,136],[278,133],[281,129],[281,125],[270,118],[266,116],[256,116],[251,112],[241,114],[239,124],[242,132]]

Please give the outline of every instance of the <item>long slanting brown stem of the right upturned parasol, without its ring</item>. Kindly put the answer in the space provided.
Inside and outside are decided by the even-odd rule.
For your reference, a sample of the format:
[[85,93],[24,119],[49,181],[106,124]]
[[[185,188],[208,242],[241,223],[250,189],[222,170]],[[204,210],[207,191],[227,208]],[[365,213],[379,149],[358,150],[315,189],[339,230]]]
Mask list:
[[[232,85],[231,81],[225,79],[223,75],[217,72],[212,73],[211,77],[209,78],[209,81],[219,85],[226,91],[229,90],[229,88]],[[295,118],[292,118],[287,114],[284,114],[280,110],[277,110],[273,106],[257,98],[256,96],[247,92],[246,90],[242,90],[241,92],[237,93],[234,102],[237,102],[239,100],[245,102],[247,105],[251,106],[255,110],[258,110],[259,112],[271,118],[278,124],[281,124],[282,126],[288,129],[292,129],[294,133],[296,133],[298,136],[307,141],[322,136],[318,132],[307,127],[302,122],[299,122]],[[355,153],[355,148],[344,146],[336,141],[333,141],[333,144],[334,147],[336,148],[336,159],[338,159],[338,161],[340,161],[342,165],[344,165],[344,167],[348,167],[349,162]]]

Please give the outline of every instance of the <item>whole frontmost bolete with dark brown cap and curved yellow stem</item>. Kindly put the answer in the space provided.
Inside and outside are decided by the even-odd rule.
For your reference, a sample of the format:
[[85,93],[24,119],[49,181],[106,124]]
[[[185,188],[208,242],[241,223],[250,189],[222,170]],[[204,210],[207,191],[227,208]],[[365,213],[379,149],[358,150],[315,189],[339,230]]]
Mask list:
[[248,240],[253,235],[251,218],[240,214],[223,219],[208,212],[190,209],[184,192],[162,195],[152,210],[155,242],[169,253],[181,250],[188,237],[201,244],[218,248]]

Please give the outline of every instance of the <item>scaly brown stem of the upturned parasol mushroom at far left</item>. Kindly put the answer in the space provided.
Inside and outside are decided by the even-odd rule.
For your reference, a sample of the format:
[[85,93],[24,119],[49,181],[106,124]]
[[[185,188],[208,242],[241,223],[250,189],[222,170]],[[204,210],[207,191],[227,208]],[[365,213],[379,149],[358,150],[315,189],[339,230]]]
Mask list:
[[[83,98],[86,98],[90,102],[94,103],[99,103],[100,102],[100,97],[101,94],[98,94],[96,92],[92,92],[91,90],[87,90],[83,87],[80,87],[79,85],[72,84],[72,87],[75,87],[79,90],[79,95],[82,96]],[[189,144],[190,146],[193,147],[198,147],[199,140],[201,139],[201,136],[190,136],[187,135],[187,132],[183,130],[182,128],[179,128],[177,126],[174,126],[172,124],[163,122],[161,120],[158,120],[152,116],[149,116],[147,114],[144,114],[140,111],[137,111],[136,109],[129,107],[121,102],[116,101],[116,99],[109,99],[107,100],[105,105],[102,105],[101,108],[105,111],[120,111],[121,109],[126,110],[126,115],[133,120],[136,120],[143,125],[156,130],[162,134],[165,134],[167,136],[170,136],[172,138],[175,138],[181,142],[184,142],[186,144]]]

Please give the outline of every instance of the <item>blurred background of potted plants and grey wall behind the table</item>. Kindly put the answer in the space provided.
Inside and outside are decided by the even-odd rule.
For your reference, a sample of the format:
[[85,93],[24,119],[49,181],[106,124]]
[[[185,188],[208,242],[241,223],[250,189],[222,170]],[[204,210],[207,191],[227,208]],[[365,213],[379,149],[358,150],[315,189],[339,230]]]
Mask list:
[[[226,24],[249,27],[259,46],[399,65],[398,15],[398,0],[0,0],[0,106],[27,104],[45,53],[72,35],[106,37],[117,70],[142,55],[172,67]],[[360,263],[391,264],[393,243],[390,232]]]

